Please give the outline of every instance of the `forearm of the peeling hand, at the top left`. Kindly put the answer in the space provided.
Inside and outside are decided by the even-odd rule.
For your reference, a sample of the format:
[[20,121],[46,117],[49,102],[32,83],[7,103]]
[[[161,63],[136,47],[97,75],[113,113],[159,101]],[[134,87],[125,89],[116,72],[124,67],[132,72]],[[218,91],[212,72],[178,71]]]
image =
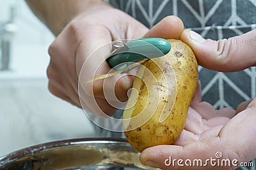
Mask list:
[[104,0],[26,0],[26,2],[56,36],[80,13],[92,13],[99,8],[113,8]]

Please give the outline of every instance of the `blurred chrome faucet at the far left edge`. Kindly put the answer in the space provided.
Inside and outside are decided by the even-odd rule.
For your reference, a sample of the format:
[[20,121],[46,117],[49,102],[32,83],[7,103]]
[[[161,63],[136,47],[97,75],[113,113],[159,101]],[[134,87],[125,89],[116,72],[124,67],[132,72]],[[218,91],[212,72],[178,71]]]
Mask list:
[[0,23],[0,44],[1,44],[1,55],[0,55],[0,69],[8,70],[10,64],[10,51],[11,51],[11,41],[13,34],[16,31],[16,25],[14,20],[16,17],[16,8],[11,6],[10,8],[10,18],[6,22]]

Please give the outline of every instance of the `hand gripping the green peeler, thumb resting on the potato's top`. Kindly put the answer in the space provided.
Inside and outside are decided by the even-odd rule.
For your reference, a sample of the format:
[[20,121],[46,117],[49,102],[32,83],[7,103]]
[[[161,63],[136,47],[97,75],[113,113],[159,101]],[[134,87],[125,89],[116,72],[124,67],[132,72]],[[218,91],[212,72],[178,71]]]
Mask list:
[[[172,24],[163,24],[163,22]],[[177,17],[167,17],[155,27],[161,27],[161,25],[168,25],[168,27],[163,27],[164,30],[170,30],[168,38],[178,39],[183,31],[183,24]],[[102,5],[92,8],[92,10],[84,11],[61,31],[49,48],[49,54],[51,55],[51,62],[47,69],[49,90],[52,94],[76,106],[81,107],[82,103],[83,108],[92,113],[102,115],[103,111],[107,115],[112,115],[116,108],[106,101],[103,92],[103,80],[93,83],[93,92],[88,90],[90,86],[81,86],[81,83],[93,78],[99,66],[100,69],[95,74],[96,76],[108,73],[110,67],[104,60],[111,52],[111,48],[104,48],[104,50],[94,53],[93,56],[91,54],[106,43],[116,39],[138,39],[146,32],[146,37],[154,35],[166,38],[165,33],[163,34],[166,31],[156,32],[154,30],[159,31],[159,29],[153,27],[147,32],[148,29],[143,24],[123,11],[116,10],[103,2]],[[88,59],[89,56],[90,59]],[[83,66],[85,61],[86,66]],[[102,61],[104,62],[102,63]],[[121,76],[121,74],[118,74],[108,78],[108,81],[104,82],[106,83],[106,89],[104,90],[113,91],[114,87],[111,84],[116,82],[116,97],[120,101],[125,101],[127,100],[127,90],[132,87],[133,76],[122,76],[120,78]],[[79,94],[78,85],[83,87],[86,93]]]

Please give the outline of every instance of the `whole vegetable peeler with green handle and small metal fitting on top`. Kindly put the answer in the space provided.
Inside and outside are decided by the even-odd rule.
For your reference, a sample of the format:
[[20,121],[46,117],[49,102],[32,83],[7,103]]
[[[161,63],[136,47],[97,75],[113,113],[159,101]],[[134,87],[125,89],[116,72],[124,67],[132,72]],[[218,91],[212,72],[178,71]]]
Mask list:
[[118,40],[113,41],[112,46],[114,50],[106,61],[115,70],[123,69],[142,59],[162,57],[171,50],[171,44],[163,38],[142,38],[129,43]]

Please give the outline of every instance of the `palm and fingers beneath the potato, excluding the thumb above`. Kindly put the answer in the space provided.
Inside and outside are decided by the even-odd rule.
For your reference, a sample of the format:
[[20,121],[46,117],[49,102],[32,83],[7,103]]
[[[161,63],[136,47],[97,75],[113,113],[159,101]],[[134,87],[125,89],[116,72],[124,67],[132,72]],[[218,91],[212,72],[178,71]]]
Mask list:
[[[237,115],[235,110],[229,108],[215,110],[211,104],[201,101],[201,86],[198,85],[184,131],[175,145],[147,148],[141,153],[140,160],[143,164],[161,169],[234,169],[241,162],[256,157],[255,104],[256,100],[252,101],[246,110]],[[230,166],[211,166],[210,161],[205,163],[206,159],[218,160],[218,152],[222,153],[220,161],[229,159]],[[170,157],[171,161],[176,159],[174,165],[169,162]],[[166,159],[169,160],[166,162]],[[184,167],[178,165],[179,159],[183,160],[180,164]],[[192,166],[186,166],[187,159],[191,160]],[[193,166],[196,159],[201,159],[205,166]],[[237,162],[232,165],[235,159]],[[166,166],[164,162],[171,165]]]

